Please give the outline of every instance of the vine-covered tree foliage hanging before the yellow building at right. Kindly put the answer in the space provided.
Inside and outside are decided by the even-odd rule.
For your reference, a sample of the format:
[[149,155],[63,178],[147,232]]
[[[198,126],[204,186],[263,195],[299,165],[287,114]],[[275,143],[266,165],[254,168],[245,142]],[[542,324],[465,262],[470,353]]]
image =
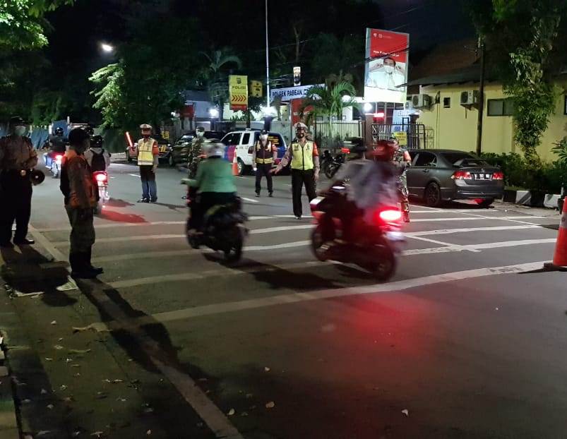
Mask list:
[[566,28],[566,2],[556,0],[470,0],[487,59],[513,97],[515,142],[527,162],[540,160],[537,147],[554,113],[566,51],[559,35]]

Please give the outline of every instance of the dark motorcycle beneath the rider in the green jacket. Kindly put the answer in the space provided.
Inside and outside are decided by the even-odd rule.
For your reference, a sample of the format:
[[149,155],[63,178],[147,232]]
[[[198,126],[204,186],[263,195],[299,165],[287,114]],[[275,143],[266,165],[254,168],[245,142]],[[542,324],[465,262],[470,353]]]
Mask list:
[[205,213],[203,231],[190,233],[187,221],[187,241],[193,248],[206,246],[214,251],[222,251],[226,262],[237,262],[248,235],[248,229],[244,227],[246,220],[248,215],[242,212],[240,198],[234,203],[213,206]]

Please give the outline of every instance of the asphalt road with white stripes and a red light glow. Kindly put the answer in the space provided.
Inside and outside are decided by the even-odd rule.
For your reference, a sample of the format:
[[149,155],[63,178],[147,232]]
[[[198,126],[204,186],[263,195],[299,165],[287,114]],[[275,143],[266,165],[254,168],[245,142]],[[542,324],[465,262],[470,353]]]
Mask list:
[[133,164],[110,176],[98,281],[67,282],[59,181],[35,188],[37,245],[2,252],[5,282],[41,293],[0,301],[34,437],[565,437],[565,274],[539,270],[556,213],[412,205],[376,284],[316,262],[290,177],[259,199],[237,179],[251,234],[226,267],[184,239],[183,174],[158,170],[156,204],[136,203]]

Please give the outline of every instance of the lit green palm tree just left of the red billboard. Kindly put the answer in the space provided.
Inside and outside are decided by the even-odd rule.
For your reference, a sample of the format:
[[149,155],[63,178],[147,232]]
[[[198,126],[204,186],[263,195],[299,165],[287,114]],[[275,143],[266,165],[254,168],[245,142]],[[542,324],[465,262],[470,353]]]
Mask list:
[[333,116],[342,120],[342,109],[353,107],[356,102],[354,86],[343,80],[342,75],[338,77],[338,82],[327,80],[326,85],[316,85],[307,92],[302,105],[302,115],[306,107],[311,107],[311,112],[307,116],[306,124],[311,125],[317,116],[328,117],[329,137],[333,138]]

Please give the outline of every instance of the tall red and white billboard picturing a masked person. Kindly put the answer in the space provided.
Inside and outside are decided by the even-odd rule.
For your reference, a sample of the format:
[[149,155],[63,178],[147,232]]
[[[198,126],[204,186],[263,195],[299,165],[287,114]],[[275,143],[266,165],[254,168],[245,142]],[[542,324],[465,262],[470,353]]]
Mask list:
[[366,102],[405,103],[410,35],[366,29]]

